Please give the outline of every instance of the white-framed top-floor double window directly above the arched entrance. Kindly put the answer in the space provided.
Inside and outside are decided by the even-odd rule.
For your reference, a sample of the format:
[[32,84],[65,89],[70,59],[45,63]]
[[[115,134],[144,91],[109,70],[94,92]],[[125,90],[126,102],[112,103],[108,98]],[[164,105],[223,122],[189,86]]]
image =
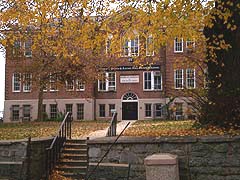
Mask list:
[[[136,53],[133,53],[132,52],[132,48],[133,47],[136,47],[136,46],[133,46],[132,47],[132,41],[135,41],[137,39],[137,42],[138,42],[138,46],[137,46],[137,54]],[[125,44],[127,44],[127,54],[125,53]],[[135,44],[135,43],[134,43]],[[123,39],[122,40],[122,45],[121,45],[121,52],[122,52],[122,56],[123,57],[134,57],[134,56],[139,56],[139,50],[140,50],[140,42],[139,42],[139,35],[137,35],[134,39]]]

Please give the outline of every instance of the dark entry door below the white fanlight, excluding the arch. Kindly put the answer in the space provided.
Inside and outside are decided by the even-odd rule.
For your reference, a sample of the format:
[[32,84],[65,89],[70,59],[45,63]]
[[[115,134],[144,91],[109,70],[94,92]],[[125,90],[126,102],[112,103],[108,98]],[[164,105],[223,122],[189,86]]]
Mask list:
[[122,103],[122,119],[137,120],[138,119],[138,102]]

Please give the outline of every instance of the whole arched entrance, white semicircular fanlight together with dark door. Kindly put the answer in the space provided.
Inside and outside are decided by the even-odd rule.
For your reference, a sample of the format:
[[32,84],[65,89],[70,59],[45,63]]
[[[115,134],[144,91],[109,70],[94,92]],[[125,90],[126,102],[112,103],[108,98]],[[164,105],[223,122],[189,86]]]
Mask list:
[[122,97],[122,120],[138,119],[138,97],[135,93],[128,92]]

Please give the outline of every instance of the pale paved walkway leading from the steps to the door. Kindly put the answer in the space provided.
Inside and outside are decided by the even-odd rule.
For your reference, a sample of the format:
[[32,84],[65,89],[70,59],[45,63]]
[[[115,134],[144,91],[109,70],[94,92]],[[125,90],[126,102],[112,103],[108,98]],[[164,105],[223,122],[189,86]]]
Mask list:
[[[129,126],[127,127],[127,129],[128,129],[134,122],[136,122],[136,121],[133,121],[133,120],[131,120],[131,121],[126,121],[126,120],[124,120],[124,121],[121,121],[121,122],[117,123],[117,135],[119,135],[119,134],[122,132],[122,130],[125,128],[125,126],[127,125],[128,122],[130,122],[130,124],[129,124]],[[100,137],[106,137],[107,131],[108,131],[108,128],[106,128],[106,129],[104,129],[104,130],[94,131],[94,132],[90,133],[90,134],[88,135],[88,137],[89,137],[90,139],[95,139],[95,138],[100,138]]]

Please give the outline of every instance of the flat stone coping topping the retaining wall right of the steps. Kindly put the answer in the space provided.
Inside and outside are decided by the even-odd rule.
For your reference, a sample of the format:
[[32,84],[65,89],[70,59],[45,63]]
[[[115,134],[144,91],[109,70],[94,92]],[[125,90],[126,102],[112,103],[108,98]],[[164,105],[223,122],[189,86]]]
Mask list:
[[[101,137],[90,139],[87,144],[112,144],[117,137]],[[201,136],[201,137],[133,137],[123,136],[118,139],[116,144],[158,144],[158,143],[217,143],[217,142],[236,142],[240,141],[240,136]]]

